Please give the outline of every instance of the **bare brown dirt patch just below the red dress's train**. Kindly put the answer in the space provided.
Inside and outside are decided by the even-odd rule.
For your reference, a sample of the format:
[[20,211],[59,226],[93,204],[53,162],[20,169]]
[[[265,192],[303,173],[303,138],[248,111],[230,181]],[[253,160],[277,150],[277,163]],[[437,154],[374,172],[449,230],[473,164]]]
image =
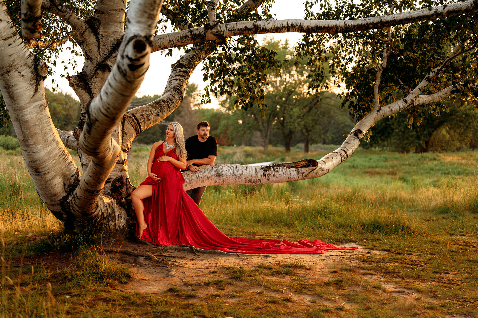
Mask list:
[[[287,263],[296,263],[305,265],[305,268],[294,269],[295,277],[300,276],[307,282],[320,282],[332,277],[334,269],[341,266],[351,266],[356,268],[359,263],[359,255],[382,254],[382,251],[370,251],[357,244],[343,244],[339,246],[357,246],[357,250],[328,251],[325,254],[195,254],[192,251],[172,251],[166,250],[162,253],[165,256],[158,255],[158,258],[165,259],[167,263],[152,261],[147,257],[135,257],[127,254],[119,254],[119,261],[128,266],[133,273],[133,280],[127,284],[116,286],[125,292],[141,293],[164,293],[171,287],[177,287],[185,292],[194,292],[197,294],[196,301],[202,297],[213,295],[233,296],[234,291],[240,290],[245,293],[261,293],[263,286],[248,284],[236,281],[233,285],[226,286],[206,286],[204,283],[214,279],[228,280],[228,275],[217,272],[224,266],[243,267],[246,269],[255,268],[257,265],[278,265]],[[123,250],[134,251],[135,253],[155,254],[155,248],[152,246],[141,247],[137,244],[123,243]],[[166,268],[167,267],[167,268]],[[268,279],[281,280],[284,286],[294,279],[294,276],[282,276],[281,278],[269,277]],[[419,293],[413,290],[406,290],[394,284],[393,281],[379,275],[361,275],[363,278],[381,285],[383,296],[388,295],[400,297],[408,303],[415,302]],[[207,284],[207,283],[206,283]],[[332,288],[333,289],[333,288]],[[265,290],[267,295],[275,297],[292,298],[293,303],[299,307],[308,307],[311,302],[316,301],[317,297],[308,293],[299,293],[292,288],[279,288],[279,290]],[[423,297],[423,295],[420,295]],[[237,301],[236,297],[225,297],[226,302],[233,303]],[[194,301],[194,299],[191,299]],[[431,299],[431,301],[435,301]],[[342,305],[348,307],[346,301],[337,297],[330,301],[321,300],[320,303],[330,306]],[[353,304],[350,304],[353,307]],[[351,308],[352,309],[352,308]]]

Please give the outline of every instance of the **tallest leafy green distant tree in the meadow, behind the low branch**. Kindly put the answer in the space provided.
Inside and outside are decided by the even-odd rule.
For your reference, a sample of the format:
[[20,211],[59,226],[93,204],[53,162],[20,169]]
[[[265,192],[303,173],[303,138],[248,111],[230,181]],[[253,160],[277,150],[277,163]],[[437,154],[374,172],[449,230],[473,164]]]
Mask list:
[[[272,131],[280,133],[281,137],[274,139],[281,140],[281,144],[288,152],[291,151],[294,135],[301,132],[304,137],[304,151],[308,152],[310,140],[313,142],[319,140],[322,136],[322,127],[328,125],[325,119],[330,119],[328,114],[331,113],[330,106],[333,103],[319,105],[321,100],[319,93],[316,93],[317,96],[310,95],[307,67],[304,61],[290,62],[293,51],[287,41],[281,42],[271,38],[265,41],[264,47],[276,52],[276,58],[283,61],[278,72],[268,73],[269,85],[264,88],[264,105],[267,107],[247,111],[236,109],[234,105],[237,104],[237,98],[233,96],[225,103],[225,108],[232,111],[241,122],[241,129],[247,129],[249,133],[251,131],[259,133],[264,152],[268,150]],[[322,101],[336,97],[332,95],[334,94],[324,92]],[[272,130],[274,125],[275,129]]]

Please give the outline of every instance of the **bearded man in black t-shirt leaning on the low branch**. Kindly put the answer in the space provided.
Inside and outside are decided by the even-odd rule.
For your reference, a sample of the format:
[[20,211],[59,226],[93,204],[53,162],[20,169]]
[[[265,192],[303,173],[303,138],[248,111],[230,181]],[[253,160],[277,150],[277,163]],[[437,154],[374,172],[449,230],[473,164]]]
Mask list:
[[[202,121],[197,124],[197,135],[186,139],[187,161],[186,170],[191,172],[199,171],[199,166],[212,165],[217,157],[216,138],[209,136],[209,123]],[[197,205],[201,202],[206,186],[191,189],[186,193]]]

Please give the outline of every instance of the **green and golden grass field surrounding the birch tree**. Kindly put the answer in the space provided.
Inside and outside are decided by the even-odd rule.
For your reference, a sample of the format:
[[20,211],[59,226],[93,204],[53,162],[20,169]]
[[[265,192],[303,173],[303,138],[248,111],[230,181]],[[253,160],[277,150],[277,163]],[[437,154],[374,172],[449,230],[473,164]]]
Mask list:
[[[139,184],[146,177],[148,153],[149,149],[141,146],[134,146],[131,151],[129,169],[133,184]],[[325,154],[326,151],[315,151],[304,156],[295,150],[285,154],[279,148],[272,148],[266,156],[259,148],[228,147],[219,149],[216,162],[295,161],[319,159]],[[279,234],[291,240],[319,238],[337,244],[352,242],[385,252],[362,257],[354,268],[337,268],[336,277],[323,282],[323,288],[315,291],[316,294],[330,295],[332,287],[336,291],[330,296],[338,295],[357,305],[356,316],[478,317],[477,159],[478,153],[473,152],[397,154],[357,151],[319,179],[261,186],[209,187],[200,207],[219,229],[230,236]],[[130,273],[87,243],[80,244],[76,256],[72,254],[72,265],[59,274],[40,265],[27,268],[27,272],[25,268],[10,266],[11,259],[23,253],[21,246],[27,246],[22,244],[23,241],[30,242],[26,247],[27,254],[39,253],[40,245],[43,250],[61,249],[62,242],[52,242],[50,238],[48,244],[45,239],[33,244],[33,239],[27,234],[41,237],[60,232],[62,226],[38,198],[21,154],[14,150],[0,151],[0,173],[0,226],[4,233],[2,240],[6,242],[2,263],[1,317],[21,317],[8,313],[22,304],[25,307],[30,298],[36,299],[40,305],[27,306],[22,311],[23,317],[86,317],[82,306],[91,307],[95,314],[90,317],[105,317],[108,308],[115,306],[125,308],[116,317],[148,316],[148,312],[141,311],[138,305],[134,307],[139,303],[158,306],[160,312],[169,313],[164,317],[195,315],[187,305],[187,299],[178,300],[174,291],[152,296],[126,295],[112,290],[109,288],[111,281],[128,280]],[[229,273],[231,277],[239,271],[243,276],[238,279],[251,282],[256,279],[250,278],[251,270],[292,273],[292,269],[263,267],[222,268],[219,271]],[[26,274],[19,279],[12,278],[23,272]],[[424,301],[420,307],[395,300],[378,302],[374,288],[380,287],[367,285],[369,283],[361,278],[364,273],[386,276],[403,288],[413,289],[435,302]],[[68,283],[51,290],[46,282],[55,275],[69,277]],[[83,299],[83,303],[54,301],[56,294],[62,294],[68,288],[82,295],[77,298]],[[359,293],[358,289],[362,292]],[[86,299],[91,295],[101,297],[103,307],[88,305]],[[181,304],[186,308],[183,315]],[[274,304],[276,302],[268,304],[271,310],[275,310]],[[218,306],[220,299],[206,302],[198,317],[221,317],[216,316],[220,312]],[[311,318],[347,317],[338,307],[324,308],[313,308],[302,315]],[[276,317],[288,317],[279,309],[273,312]],[[257,312],[244,312],[239,316],[261,317]]]

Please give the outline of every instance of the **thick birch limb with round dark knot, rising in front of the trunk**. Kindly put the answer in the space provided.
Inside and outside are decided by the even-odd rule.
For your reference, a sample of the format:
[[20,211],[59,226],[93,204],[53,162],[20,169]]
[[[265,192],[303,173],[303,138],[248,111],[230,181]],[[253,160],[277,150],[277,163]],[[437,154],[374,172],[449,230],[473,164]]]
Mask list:
[[[84,176],[71,200],[72,210],[93,215],[102,200],[98,196],[120,154],[111,137],[149,67],[150,43],[163,0],[136,0],[130,3],[130,23],[120,46],[116,64],[105,85],[87,106],[79,147],[91,156]],[[154,8],[154,10],[151,10]]]

